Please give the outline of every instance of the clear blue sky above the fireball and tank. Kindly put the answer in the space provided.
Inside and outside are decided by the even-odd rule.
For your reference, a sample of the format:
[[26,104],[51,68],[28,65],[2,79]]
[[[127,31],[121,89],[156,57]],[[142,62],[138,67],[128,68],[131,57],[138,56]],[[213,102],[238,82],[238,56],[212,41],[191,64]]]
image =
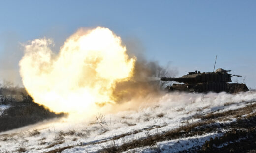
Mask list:
[[128,49],[177,77],[232,70],[256,88],[255,0],[0,0],[0,78],[21,83],[22,43],[52,38],[55,50],[81,27],[107,27]]

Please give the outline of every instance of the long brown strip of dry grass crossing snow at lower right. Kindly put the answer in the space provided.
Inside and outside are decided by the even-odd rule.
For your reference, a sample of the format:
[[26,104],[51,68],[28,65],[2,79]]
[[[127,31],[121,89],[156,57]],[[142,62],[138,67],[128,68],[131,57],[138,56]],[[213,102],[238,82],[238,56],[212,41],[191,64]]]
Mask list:
[[[128,149],[137,148],[137,147],[144,147],[144,146],[154,146],[157,142],[165,141],[165,140],[172,140],[178,139],[180,137],[191,137],[194,135],[203,135],[205,133],[209,133],[212,131],[218,131],[219,128],[242,128],[242,127],[254,127],[256,126],[256,116],[252,116],[249,119],[239,119],[237,122],[231,124],[214,124],[217,119],[222,117],[229,117],[230,115],[237,116],[237,113],[240,112],[240,115],[251,113],[254,110],[256,104],[240,108],[237,110],[226,111],[222,113],[209,113],[205,116],[201,116],[203,118],[200,122],[195,122],[192,124],[183,125],[180,128],[168,131],[164,134],[155,133],[151,134],[146,132],[146,138],[136,140],[130,142],[125,142],[121,146],[116,146],[115,143],[110,144],[109,146],[103,146],[100,153],[119,153],[122,151],[127,151]],[[212,152],[214,153],[214,152]]]

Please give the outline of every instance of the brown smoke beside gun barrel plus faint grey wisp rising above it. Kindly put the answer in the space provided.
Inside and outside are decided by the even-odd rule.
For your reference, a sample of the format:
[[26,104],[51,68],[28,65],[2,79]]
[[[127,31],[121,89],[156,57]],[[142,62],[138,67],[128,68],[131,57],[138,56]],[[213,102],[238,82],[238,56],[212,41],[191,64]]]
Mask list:
[[[136,56],[133,77],[128,81],[117,82],[113,90],[113,98],[117,103],[141,99],[153,98],[159,95],[170,82],[160,81],[160,77],[175,77],[178,74],[176,68],[171,67],[170,62],[161,66],[157,61],[145,59],[145,49],[136,37],[125,39],[127,54]],[[141,101],[141,100],[140,100]]]

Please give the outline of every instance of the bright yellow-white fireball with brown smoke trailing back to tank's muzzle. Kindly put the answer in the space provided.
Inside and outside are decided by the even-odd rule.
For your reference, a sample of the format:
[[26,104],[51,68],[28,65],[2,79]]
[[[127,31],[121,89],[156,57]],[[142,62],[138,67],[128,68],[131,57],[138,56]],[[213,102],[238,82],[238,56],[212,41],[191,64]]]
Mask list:
[[97,109],[95,104],[154,96],[164,85],[160,77],[171,76],[157,62],[130,58],[121,38],[108,28],[77,31],[59,54],[52,45],[46,38],[31,41],[19,65],[34,101],[55,112],[90,113]]

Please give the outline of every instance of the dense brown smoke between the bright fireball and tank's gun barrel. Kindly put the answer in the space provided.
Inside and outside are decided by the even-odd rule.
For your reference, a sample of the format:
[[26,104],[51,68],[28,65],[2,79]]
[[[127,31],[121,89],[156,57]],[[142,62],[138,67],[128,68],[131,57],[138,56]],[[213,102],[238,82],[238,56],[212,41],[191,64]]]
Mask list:
[[168,83],[160,81],[160,77],[174,76],[176,73],[177,71],[174,69],[162,67],[157,62],[138,59],[132,79],[117,82],[113,90],[113,97],[118,103],[145,98],[149,95],[152,98],[159,95]]

